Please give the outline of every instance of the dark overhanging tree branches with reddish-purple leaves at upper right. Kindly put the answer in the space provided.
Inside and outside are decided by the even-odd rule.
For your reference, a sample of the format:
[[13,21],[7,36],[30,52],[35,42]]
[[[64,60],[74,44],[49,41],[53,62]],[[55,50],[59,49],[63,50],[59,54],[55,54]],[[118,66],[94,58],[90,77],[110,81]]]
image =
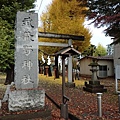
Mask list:
[[107,36],[114,38],[114,44],[120,42],[120,0],[87,0],[88,19],[96,27],[106,26]]

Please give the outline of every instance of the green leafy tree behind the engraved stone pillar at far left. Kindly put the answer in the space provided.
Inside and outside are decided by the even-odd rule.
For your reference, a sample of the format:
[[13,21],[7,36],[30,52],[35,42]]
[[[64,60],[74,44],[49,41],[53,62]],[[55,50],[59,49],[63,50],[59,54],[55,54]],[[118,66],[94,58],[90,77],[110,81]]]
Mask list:
[[[0,70],[7,72],[13,80],[14,71],[14,28],[17,11],[33,8],[35,0],[0,0]],[[8,75],[9,73],[9,75]]]

